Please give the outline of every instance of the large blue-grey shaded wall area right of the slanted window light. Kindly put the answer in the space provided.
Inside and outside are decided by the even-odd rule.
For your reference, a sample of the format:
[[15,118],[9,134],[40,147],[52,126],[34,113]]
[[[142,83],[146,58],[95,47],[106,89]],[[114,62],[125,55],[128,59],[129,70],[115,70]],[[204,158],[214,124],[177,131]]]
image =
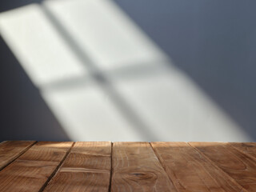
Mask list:
[[255,1],[115,2],[256,141]]

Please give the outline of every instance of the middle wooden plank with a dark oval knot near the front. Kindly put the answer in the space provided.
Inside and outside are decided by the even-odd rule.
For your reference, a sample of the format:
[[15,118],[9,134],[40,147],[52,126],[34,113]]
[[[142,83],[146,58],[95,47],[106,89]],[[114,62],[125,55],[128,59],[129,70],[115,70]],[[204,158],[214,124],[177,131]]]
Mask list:
[[148,142],[114,142],[111,191],[177,191]]

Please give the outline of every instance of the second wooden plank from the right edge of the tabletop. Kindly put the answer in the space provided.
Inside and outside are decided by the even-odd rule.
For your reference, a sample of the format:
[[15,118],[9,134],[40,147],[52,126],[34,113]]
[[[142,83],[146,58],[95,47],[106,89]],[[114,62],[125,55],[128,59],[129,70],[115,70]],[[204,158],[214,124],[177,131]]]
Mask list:
[[255,191],[256,163],[248,155],[234,149],[229,143],[190,142],[190,146],[194,146],[243,188]]

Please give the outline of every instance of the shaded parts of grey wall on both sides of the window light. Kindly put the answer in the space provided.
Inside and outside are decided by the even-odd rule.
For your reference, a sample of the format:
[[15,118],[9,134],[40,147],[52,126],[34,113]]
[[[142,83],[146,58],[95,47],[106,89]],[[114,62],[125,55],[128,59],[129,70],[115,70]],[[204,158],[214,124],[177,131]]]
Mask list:
[[[30,1],[1,1],[1,11]],[[117,0],[122,8],[256,141],[256,2]],[[68,140],[0,39],[0,141]]]

